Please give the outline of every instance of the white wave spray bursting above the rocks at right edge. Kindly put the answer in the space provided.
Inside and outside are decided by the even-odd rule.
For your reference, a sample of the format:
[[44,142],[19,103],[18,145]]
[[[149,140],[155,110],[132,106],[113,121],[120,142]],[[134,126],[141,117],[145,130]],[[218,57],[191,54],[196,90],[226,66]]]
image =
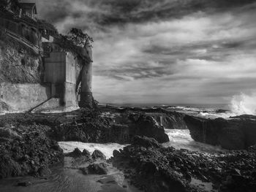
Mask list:
[[233,96],[230,110],[235,115],[256,115],[256,92],[251,95],[241,93]]

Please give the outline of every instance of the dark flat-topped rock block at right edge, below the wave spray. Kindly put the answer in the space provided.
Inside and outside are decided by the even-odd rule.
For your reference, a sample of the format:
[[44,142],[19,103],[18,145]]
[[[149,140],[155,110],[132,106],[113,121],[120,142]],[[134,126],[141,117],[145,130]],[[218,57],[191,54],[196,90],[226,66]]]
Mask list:
[[192,139],[228,150],[241,150],[256,144],[256,120],[252,115],[230,119],[204,119],[186,115]]

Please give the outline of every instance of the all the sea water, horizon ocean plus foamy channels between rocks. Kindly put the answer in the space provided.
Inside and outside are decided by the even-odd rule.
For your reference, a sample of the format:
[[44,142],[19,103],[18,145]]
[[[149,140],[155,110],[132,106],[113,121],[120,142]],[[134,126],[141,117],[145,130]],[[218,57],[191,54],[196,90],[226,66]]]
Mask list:
[[[106,104],[118,108],[136,107],[136,108],[162,108],[167,111],[182,112],[187,115],[194,115],[202,118],[230,118],[237,115],[256,115],[256,94],[245,95],[241,93],[238,96],[233,96],[228,104]],[[220,146],[207,145],[200,142],[195,142],[189,133],[189,130],[181,129],[165,129],[170,142],[162,144],[164,147],[175,147],[176,149],[187,149],[192,151],[199,151],[203,153],[215,153],[225,151]],[[64,152],[71,152],[75,147],[80,150],[86,149],[93,151],[95,149],[101,150],[107,157],[111,157],[113,150],[118,150],[126,145],[119,145],[116,143],[95,144],[82,142],[59,142]],[[127,144],[129,145],[129,144]]]

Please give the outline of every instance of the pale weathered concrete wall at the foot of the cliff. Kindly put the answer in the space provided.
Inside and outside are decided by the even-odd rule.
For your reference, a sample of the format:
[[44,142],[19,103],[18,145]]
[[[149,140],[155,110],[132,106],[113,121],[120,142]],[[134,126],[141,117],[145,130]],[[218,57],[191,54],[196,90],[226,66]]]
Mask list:
[[50,86],[1,82],[0,112],[24,112],[50,99]]

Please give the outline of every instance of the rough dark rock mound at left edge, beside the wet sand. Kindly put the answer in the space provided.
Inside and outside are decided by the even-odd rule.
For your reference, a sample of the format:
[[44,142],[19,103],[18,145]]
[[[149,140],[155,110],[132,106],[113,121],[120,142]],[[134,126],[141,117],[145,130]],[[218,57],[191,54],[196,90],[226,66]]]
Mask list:
[[45,136],[47,128],[36,125],[4,127],[8,129],[11,134],[1,134],[7,139],[0,140],[0,178],[42,175],[48,166],[62,160],[58,143]]

